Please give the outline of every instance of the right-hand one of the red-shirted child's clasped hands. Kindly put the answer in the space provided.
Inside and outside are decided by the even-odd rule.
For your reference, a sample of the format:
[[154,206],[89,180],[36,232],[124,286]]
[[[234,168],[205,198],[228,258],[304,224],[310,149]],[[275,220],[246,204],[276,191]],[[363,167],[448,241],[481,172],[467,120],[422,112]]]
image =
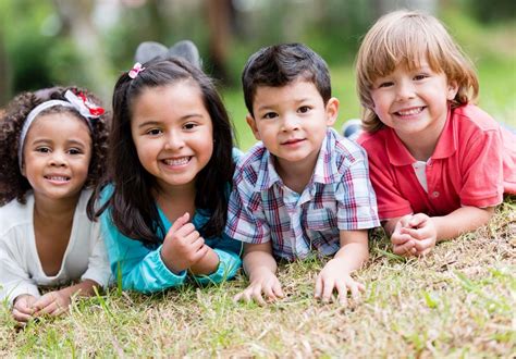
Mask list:
[[408,235],[415,239],[415,256],[426,256],[435,246],[438,232],[435,223],[425,213],[417,213],[408,221],[408,225],[401,228],[403,235]]

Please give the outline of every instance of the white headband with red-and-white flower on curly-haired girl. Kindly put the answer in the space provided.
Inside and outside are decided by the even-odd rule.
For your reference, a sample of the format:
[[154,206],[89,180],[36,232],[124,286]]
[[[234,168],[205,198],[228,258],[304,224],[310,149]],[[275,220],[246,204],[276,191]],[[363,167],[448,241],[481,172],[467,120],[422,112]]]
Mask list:
[[[49,100],[36,106],[27,115],[27,120],[23,124],[22,132],[20,133],[20,141],[17,148],[17,160],[20,170],[22,170],[23,165],[23,146],[25,144],[25,137],[27,136],[28,128],[33,124],[34,120],[45,110],[53,108],[56,106],[63,106],[65,108],[75,109],[85,119],[97,119],[105,113],[105,110],[101,107],[91,103],[83,92],[78,92],[75,95],[71,90],[67,90],[64,94],[64,98],[67,101],[63,100]],[[91,123],[86,121],[89,129],[91,131]]]

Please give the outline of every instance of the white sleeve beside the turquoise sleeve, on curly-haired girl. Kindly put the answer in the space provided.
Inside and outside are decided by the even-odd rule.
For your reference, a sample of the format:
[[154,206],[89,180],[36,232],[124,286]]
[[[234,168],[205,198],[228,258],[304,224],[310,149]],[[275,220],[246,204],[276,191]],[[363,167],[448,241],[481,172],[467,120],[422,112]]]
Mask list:
[[88,269],[81,276],[81,280],[91,280],[102,287],[107,287],[111,277],[109,269],[108,253],[106,251],[106,244],[100,235],[100,223],[93,224],[90,240],[93,240],[93,248],[89,255]]

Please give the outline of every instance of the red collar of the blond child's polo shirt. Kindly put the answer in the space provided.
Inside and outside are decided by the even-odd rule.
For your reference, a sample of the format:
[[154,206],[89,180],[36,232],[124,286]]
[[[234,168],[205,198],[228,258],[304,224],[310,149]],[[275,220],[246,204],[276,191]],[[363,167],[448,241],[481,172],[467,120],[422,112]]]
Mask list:
[[[454,135],[454,123],[451,121],[452,111],[449,108],[446,122],[444,124],[441,136],[439,137],[438,145],[433,150],[432,160],[444,159],[455,153],[457,148],[457,139]],[[397,137],[395,131],[391,127],[384,127],[381,131],[385,131],[385,143],[389,161],[392,165],[409,165],[416,162],[416,159],[407,150],[403,141]]]

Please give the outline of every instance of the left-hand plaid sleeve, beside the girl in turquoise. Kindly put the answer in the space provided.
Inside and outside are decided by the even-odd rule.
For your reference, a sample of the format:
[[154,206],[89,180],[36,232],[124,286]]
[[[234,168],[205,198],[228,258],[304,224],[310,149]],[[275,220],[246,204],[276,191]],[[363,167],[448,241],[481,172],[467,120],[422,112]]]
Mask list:
[[260,194],[245,178],[244,171],[236,168],[233,189],[228,205],[225,234],[233,239],[260,244],[270,240],[270,230],[261,206]]

